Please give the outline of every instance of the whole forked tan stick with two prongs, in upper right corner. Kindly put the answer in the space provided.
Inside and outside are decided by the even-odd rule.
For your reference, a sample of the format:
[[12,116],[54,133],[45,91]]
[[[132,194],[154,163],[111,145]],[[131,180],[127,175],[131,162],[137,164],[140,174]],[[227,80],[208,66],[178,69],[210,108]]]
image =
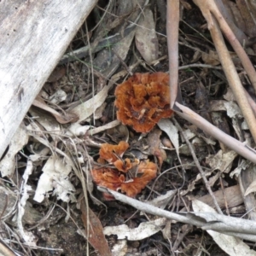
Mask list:
[[[241,81],[236,73],[235,65],[231,60],[230,53],[226,45],[224,44],[224,38],[218,26],[220,26],[221,30],[224,32],[224,35],[230,41],[233,49],[235,49],[236,54],[241,60],[242,66],[245,68],[247,75],[253,84],[254,90],[256,90],[256,72],[253,64],[237,40],[236,35],[234,32],[232,32],[230,26],[224,20],[224,17],[218,10],[216,3],[212,0],[194,0],[194,2],[199,6],[202,15],[204,15],[207,20],[208,29],[211,32],[212,40],[218,52],[218,58],[224,68],[224,73],[229,81],[232,91],[234,92],[236,101],[241,108],[241,112],[247,121],[247,125],[249,126],[253,139],[256,142],[256,119],[247,100],[247,96],[244,93]],[[218,20],[218,23],[215,19]]]

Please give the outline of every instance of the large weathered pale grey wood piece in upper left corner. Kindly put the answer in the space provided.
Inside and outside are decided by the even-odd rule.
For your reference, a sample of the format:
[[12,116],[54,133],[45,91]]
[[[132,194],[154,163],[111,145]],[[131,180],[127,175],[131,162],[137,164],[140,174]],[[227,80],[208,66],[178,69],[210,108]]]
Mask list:
[[0,1],[0,157],[96,2]]

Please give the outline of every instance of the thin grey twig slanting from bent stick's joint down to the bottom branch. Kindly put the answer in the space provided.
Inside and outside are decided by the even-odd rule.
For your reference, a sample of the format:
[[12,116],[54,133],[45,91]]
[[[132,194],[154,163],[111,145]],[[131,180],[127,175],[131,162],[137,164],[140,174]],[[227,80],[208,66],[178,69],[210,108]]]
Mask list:
[[180,132],[181,136],[183,137],[183,139],[185,140],[185,142],[187,143],[187,145],[189,147],[190,153],[192,154],[193,160],[195,162],[195,166],[198,168],[199,172],[201,173],[201,177],[202,177],[204,183],[206,184],[207,190],[208,190],[209,194],[212,196],[212,201],[214,203],[214,206],[216,207],[216,210],[218,211],[219,214],[223,214],[220,207],[218,206],[218,201],[216,200],[216,197],[212,192],[212,188],[211,188],[210,184],[207,181],[207,177],[205,175],[205,172],[201,168],[200,162],[199,162],[199,160],[197,159],[197,157],[195,155],[195,151],[194,151],[191,143],[189,142],[188,137],[186,137],[186,135],[184,134],[183,129],[177,123],[177,120],[175,118],[173,118],[172,120],[174,121],[174,124],[177,127],[177,130]]

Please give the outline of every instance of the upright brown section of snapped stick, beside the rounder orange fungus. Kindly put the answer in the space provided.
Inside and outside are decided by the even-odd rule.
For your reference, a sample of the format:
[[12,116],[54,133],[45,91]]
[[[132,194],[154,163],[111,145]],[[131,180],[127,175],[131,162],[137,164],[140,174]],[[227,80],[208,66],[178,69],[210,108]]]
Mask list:
[[179,1],[167,0],[167,45],[169,55],[171,108],[177,99],[178,79],[178,23],[179,23]]

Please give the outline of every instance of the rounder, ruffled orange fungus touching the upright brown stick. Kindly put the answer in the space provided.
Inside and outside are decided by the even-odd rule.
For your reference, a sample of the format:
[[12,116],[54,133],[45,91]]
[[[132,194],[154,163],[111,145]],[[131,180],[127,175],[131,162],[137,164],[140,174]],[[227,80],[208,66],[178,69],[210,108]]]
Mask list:
[[148,132],[161,118],[172,116],[169,75],[135,73],[114,92],[117,119],[137,132]]

